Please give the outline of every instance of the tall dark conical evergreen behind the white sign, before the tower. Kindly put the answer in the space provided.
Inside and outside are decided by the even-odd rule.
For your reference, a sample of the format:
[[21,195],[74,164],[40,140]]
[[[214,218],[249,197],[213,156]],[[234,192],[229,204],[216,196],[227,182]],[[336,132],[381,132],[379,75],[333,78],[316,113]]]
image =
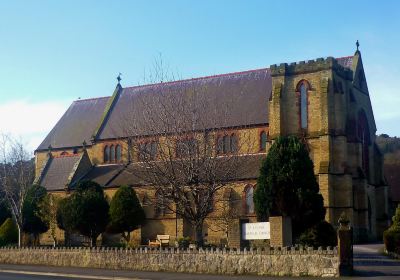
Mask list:
[[271,146],[260,169],[254,204],[260,220],[291,217],[294,239],[324,219],[314,165],[297,137],[279,137]]

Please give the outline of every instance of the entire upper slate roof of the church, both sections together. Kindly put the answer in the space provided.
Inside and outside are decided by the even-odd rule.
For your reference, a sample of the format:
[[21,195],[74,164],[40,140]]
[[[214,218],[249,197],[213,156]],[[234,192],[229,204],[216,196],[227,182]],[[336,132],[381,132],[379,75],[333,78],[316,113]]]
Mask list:
[[[347,68],[352,67],[352,60],[351,56],[337,58],[339,64]],[[80,147],[83,141],[90,144],[99,127],[97,139],[100,140],[165,132],[162,130],[166,126],[149,130],[143,124],[149,116],[162,118],[158,101],[166,96],[179,97],[188,104],[202,104],[196,110],[197,124],[190,130],[264,125],[269,123],[271,90],[268,68],[122,88],[107,115],[110,97],[74,101],[37,150],[47,150],[49,145],[52,148]],[[144,104],[148,105],[146,110]],[[182,118],[177,112],[171,119]],[[128,132],[125,124],[131,120],[141,130],[135,128]]]

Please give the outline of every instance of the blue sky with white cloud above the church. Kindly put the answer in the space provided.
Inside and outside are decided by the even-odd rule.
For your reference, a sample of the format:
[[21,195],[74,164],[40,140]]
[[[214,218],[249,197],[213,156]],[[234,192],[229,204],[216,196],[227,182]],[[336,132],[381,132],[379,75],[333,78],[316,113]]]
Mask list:
[[[30,149],[70,103],[143,80],[347,56],[360,41],[378,133],[400,136],[400,1],[0,0],[0,131]],[[7,117],[5,117],[7,116]]]

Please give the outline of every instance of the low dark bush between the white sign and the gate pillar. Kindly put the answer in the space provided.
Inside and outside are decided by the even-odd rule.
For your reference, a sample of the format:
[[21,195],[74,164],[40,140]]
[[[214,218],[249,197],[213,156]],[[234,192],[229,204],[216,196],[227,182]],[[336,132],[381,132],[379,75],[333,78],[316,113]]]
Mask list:
[[327,221],[322,221],[315,226],[304,231],[297,240],[303,246],[314,248],[336,246],[337,235],[333,226]]

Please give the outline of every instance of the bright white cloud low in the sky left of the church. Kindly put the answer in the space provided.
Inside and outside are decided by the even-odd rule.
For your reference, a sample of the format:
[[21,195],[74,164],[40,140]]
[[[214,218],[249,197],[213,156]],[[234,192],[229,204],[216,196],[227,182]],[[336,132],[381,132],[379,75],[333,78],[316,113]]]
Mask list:
[[28,99],[1,103],[0,132],[21,139],[33,152],[69,105],[69,102],[31,102]]

